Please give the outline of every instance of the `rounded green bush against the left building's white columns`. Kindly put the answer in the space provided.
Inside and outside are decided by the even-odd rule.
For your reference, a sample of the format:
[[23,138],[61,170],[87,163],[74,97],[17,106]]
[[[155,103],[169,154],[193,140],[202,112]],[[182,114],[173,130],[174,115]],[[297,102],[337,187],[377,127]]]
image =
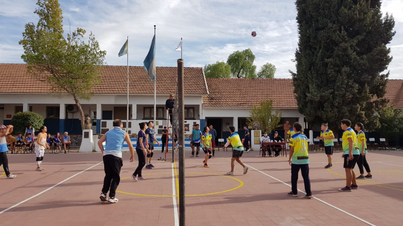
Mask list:
[[39,128],[44,125],[44,117],[31,111],[18,112],[12,116],[10,124],[14,126],[14,134],[24,133],[30,125],[35,128],[35,131],[39,131]]

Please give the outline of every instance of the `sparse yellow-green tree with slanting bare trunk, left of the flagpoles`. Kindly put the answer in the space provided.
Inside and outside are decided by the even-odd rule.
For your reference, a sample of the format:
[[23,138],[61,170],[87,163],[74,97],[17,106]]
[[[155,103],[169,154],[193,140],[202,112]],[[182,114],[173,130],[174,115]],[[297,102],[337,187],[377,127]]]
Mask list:
[[[25,25],[24,48],[21,58],[29,64],[28,72],[38,80],[56,84],[54,92],[67,92],[77,104],[84,128],[84,113],[80,100],[89,100],[91,88],[100,84],[106,51],[101,51],[91,33],[85,43],[86,31],[77,28],[63,37],[63,16],[58,0],[38,0],[34,13],[39,16],[35,26]],[[50,74],[47,76],[46,74]]]

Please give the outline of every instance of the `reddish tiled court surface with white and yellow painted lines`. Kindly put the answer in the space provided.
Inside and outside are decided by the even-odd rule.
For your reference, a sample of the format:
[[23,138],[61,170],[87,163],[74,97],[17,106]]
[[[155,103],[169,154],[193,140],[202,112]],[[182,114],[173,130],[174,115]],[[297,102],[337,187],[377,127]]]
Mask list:
[[[158,161],[143,169],[145,181],[132,181],[137,166],[124,153],[118,203],[101,202],[104,170],[100,153],[45,154],[44,171],[35,171],[34,154],[8,154],[15,179],[0,177],[0,225],[42,226],[175,226],[178,224],[177,183],[172,173],[178,162]],[[286,157],[244,153],[249,166],[242,175],[227,176],[231,152],[216,152],[204,168],[203,157],[186,152],[186,225],[402,225],[403,152],[368,153],[373,179],[359,180],[359,189],[345,186],[341,152],[327,170],[326,155],[310,152],[310,179],[314,198],[288,196],[291,170]],[[137,158],[137,156],[135,156]],[[356,166],[356,171],[358,168]],[[300,177],[298,187],[303,189]],[[174,189],[173,189],[174,188]],[[179,200],[180,201],[180,200]]]

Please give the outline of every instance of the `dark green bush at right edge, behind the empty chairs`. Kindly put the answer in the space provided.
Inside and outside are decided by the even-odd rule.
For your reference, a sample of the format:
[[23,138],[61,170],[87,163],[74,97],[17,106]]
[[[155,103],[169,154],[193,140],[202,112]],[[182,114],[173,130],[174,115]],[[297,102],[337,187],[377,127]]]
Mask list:
[[403,136],[403,109],[386,106],[379,111],[380,127],[376,132],[386,140],[394,140]]

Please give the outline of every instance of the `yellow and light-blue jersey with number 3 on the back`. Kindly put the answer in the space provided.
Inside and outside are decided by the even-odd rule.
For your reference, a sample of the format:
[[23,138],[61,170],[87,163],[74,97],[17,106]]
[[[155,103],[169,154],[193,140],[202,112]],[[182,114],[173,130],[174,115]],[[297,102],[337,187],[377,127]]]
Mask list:
[[309,164],[308,138],[305,134],[294,133],[290,138],[289,145],[294,147],[291,164]]

